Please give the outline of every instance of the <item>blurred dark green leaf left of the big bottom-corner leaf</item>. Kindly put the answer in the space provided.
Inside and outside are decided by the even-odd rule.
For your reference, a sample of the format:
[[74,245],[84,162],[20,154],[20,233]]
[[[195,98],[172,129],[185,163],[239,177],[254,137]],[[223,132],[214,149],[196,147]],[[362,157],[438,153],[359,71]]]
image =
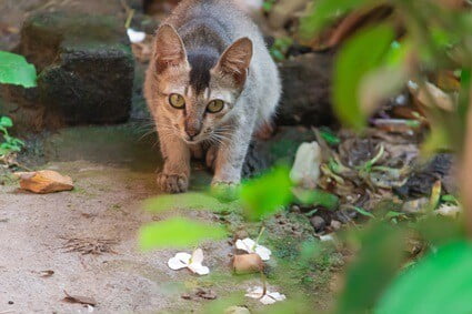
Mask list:
[[400,269],[403,236],[399,230],[384,223],[371,225],[361,234],[361,245],[348,269],[337,313],[369,313]]

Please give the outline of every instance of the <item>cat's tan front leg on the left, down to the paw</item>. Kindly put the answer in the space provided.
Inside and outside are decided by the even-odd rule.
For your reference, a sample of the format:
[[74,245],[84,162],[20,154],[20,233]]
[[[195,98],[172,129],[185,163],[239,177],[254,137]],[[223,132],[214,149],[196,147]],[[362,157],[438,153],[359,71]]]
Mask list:
[[158,174],[158,185],[165,193],[183,193],[189,189],[190,149],[178,136],[159,134],[164,159],[162,171]]

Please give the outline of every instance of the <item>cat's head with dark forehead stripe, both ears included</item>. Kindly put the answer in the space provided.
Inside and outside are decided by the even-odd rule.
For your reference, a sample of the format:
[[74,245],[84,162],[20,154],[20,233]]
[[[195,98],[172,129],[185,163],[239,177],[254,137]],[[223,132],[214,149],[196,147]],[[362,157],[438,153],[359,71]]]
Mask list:
[[[159,128],[188,143],[224,136],[228,130],[218,126],[231,119],[244,89],[251,40],[235,41],[221,55],[210,47],[188,52],[175,29],[164,24],[157,32],[152,58],[152,105],[168,122]],[[157,113],[157,108],[151,110]]]

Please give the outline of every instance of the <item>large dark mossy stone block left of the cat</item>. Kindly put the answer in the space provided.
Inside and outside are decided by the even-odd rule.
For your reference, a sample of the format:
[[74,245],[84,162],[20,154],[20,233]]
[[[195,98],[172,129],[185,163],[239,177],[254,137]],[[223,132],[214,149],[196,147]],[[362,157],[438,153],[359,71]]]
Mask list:
[[134,61],[123,23],[116,17],[31,14],[21,30],[19,52],[39,72],[36,94],[28,102],[44,108],[46,114],[67,124],[129,118]]

